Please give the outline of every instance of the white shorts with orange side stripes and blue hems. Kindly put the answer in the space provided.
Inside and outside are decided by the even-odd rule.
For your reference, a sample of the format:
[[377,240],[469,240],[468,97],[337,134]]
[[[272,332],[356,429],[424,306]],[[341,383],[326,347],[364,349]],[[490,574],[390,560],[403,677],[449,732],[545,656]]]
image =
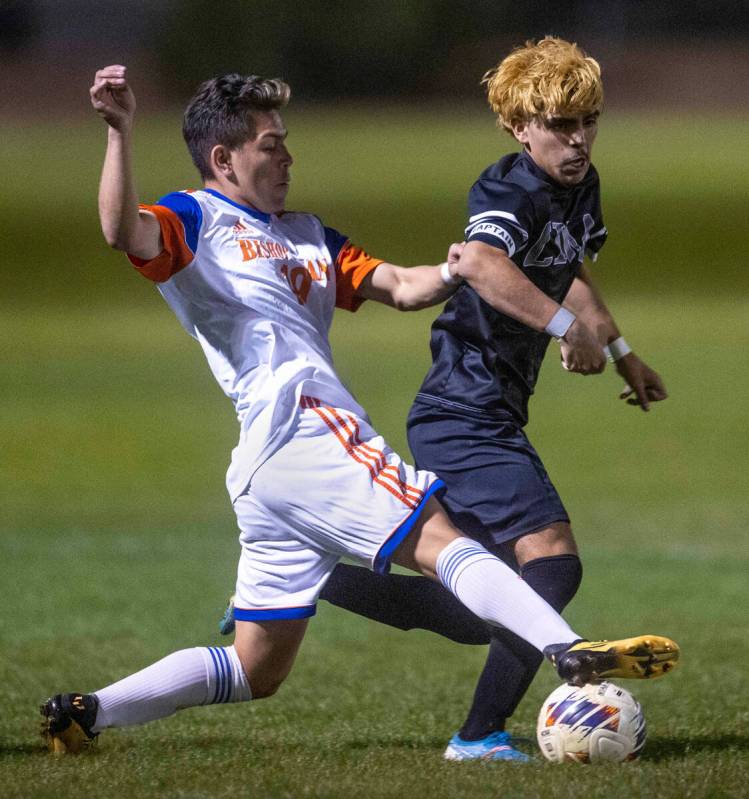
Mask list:
[[369,422],[302,397],[292,438],[234,503],[241,531],[235,618],[300,619],[315,613],[342,556],[376,572],[444,488],[404,463]]

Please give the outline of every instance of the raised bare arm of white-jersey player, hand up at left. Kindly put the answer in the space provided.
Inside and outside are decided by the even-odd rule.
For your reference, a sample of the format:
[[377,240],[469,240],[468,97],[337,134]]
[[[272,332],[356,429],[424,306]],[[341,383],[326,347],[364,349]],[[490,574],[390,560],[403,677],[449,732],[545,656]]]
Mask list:
[[107,123],[107,151],[99,185],[99,219],[110,247],[150,260],[162,250],[153,214],[138,210],[132,170],[131,137],[135,96],[127,69],[113,64],[98,70],[89,90],[91,105]]

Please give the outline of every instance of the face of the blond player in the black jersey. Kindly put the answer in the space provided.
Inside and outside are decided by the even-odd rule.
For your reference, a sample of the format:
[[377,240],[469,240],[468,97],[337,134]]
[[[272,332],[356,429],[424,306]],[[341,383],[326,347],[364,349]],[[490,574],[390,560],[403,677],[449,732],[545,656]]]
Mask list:
[[563,186],[574,186],[590,167],[590,153],[598,133],[598,112],[533,119],[517,123],[513,132],[549,177]]

